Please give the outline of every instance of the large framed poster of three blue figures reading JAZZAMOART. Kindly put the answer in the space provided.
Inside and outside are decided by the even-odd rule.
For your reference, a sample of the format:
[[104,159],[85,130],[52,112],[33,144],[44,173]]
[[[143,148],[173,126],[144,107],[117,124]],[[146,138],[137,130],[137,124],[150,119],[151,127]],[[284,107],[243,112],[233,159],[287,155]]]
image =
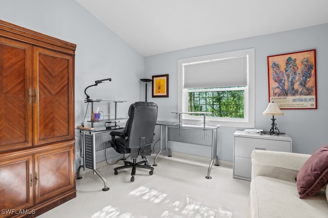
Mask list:
[[268,56],[269,102],[317,109],[316,50]]

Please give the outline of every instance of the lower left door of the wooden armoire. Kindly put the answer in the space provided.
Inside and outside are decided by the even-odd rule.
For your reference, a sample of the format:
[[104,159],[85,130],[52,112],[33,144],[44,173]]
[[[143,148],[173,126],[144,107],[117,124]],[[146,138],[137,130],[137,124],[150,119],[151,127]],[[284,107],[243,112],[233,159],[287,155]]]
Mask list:
[[0,161],[0,208],[19,210],[32,206],[32,180],[32,155]]

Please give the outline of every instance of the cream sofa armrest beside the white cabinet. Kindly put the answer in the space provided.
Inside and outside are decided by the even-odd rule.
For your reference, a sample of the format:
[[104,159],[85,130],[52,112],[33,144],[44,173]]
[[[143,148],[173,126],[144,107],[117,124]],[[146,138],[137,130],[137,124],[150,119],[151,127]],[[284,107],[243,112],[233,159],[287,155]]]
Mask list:
[[299,169],[311,155],[289,152],[262,151],[252,152],[252,179],[267,176],[296,182]]

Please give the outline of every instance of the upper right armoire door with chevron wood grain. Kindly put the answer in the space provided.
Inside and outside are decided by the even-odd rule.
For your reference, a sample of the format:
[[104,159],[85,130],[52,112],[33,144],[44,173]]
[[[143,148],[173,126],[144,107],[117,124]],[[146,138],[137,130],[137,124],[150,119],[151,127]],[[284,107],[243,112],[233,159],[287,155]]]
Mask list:
[[34,145],[74,139],[73,56],[33,49]]

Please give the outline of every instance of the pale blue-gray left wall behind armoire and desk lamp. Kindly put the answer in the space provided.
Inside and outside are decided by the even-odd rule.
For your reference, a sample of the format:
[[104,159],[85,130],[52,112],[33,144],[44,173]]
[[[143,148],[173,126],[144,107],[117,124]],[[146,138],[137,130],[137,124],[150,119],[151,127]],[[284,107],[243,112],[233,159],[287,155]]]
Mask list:
[[[77,44],[75,56],[75,125],[86,113],[84,89],[95,80],[112,82],[91,87],[91,99],[126,100],[118,105],[118,116],[127,117],[131,103],[140,100],[139,79],[145,74],[145,57],[119,38],[74,0],[2,0],[0,19],[15,25]],[[144,93],[142,93],[142,98]],[[113,113],[114,104],[100,104],[100,110]],[[88,118],[89,116],[89,118]],[[90,120],[90,107],[87,112]],[[76,131],[77,146],[79,131]],[[79,157],[76,148],[76,157]],[[116,156],[113,149],[107,157]],[[97,153],[104,160],[104,151]]]

